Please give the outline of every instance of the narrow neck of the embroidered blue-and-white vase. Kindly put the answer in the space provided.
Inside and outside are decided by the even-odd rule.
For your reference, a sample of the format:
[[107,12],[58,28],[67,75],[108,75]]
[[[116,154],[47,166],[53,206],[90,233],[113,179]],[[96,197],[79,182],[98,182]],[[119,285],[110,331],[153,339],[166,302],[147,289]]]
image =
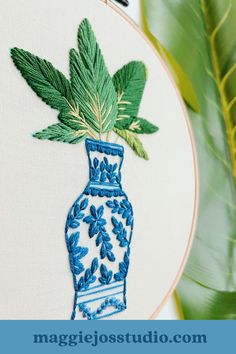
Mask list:
[[124,148],[99,140],[86,139],[89,183],[96,188],[121,188]]

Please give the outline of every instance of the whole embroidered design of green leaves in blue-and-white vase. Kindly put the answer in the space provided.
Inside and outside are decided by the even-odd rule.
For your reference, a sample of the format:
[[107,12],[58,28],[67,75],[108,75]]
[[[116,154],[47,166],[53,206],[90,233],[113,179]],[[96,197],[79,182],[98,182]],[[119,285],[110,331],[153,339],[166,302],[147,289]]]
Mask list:
[[110,138],[117,134],[148,160],[139,136],[158,128],[138,117],[147,79],[142,62],[132,61],[111,77],[87,19],[79,26],[78,49],[70,51],[70,80],[23,49],[11,49],[11,57],[33,91],[59,112],[57,124],[33,136],[69,144],[85,140],[89,181],[69,210],[65,238],[75,291],[71,319],[94,320],[127,308],[134,229],[132,205],[121,185],[124,147]]

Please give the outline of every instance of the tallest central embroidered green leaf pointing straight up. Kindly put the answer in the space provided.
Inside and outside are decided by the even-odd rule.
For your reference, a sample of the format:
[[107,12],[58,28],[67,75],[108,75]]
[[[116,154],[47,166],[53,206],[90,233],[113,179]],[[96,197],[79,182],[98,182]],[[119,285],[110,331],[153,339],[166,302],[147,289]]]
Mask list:
[[71,83],[86,121],[101,136],[114,127],[117,94],[87,19],[79,27],[78,44],[79,53],[70,51]]

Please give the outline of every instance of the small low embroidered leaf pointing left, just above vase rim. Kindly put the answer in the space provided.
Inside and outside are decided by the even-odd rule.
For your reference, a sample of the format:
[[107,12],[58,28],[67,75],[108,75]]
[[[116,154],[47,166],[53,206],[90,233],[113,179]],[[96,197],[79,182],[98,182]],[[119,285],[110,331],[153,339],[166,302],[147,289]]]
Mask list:
[[53,124],[33,136],[42,140],[61,141],[69,144],[78,144],[86,138],[86,131],[73,130],[63,123]]

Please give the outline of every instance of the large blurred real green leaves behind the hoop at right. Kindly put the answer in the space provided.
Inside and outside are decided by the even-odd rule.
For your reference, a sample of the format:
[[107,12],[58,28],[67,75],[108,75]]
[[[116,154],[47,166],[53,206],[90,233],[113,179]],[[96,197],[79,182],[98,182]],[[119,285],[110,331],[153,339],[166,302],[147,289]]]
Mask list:
[[236,2],[143,0],[148,30],[196,92],[200,170],[193,248],[177,288],[185,319],[236,319]]

